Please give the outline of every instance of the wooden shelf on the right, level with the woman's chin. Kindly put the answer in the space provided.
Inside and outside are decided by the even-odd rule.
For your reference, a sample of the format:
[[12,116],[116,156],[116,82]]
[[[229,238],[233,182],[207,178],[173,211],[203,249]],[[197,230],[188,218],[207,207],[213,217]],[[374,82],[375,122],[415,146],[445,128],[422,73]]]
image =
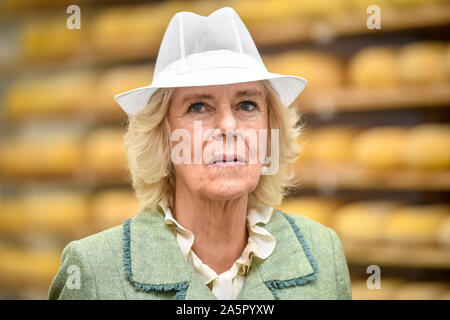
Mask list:
[[355,165],[298,164],[299,187],[375,190],[450,190],[450,171],[369,170]]

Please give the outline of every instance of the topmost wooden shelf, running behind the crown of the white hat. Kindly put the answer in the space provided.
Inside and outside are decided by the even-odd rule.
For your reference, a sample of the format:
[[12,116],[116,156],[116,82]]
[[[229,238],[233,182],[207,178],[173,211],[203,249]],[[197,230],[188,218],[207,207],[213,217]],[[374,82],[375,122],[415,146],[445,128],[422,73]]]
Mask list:
[[[242,17],[245,21],[245,16]],[[280,45],[291,45],[309,41],[330,41],[335,37],[375,34],[395,30],[417,29],[442,26],[450,23],[449,3],[424,3],[421,5],[383,8],[381,29],[369,30],[366,26],[365,8],[346,9],[343,12],[324,17],[295,16],[280,20],[247,23],[258,48],[264,49]],[[168,22],[168,21],[167,21]],[[162,39],[162,34],[158,35]],[[97,66],[111,63],[147,61],[154,59],[159,48],[158,43],[148,43],[142,39],[135,47],[111,44],[110,48],[98,47],[95,40],[83,42],[80,54],[67,59],[39,59],[39,61],[5,61],[0,64],[0,74],[15,76],[18,72],[45,69],[61,69],[67,66]]]

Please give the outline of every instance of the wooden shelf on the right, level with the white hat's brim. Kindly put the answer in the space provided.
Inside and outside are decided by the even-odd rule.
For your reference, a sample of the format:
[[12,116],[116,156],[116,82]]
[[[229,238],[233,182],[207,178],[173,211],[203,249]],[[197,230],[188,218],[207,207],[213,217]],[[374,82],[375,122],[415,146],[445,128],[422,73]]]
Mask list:
[[450,106],[450,84],[392,88],[306,89],[298,98],[305,113],[335,113]]

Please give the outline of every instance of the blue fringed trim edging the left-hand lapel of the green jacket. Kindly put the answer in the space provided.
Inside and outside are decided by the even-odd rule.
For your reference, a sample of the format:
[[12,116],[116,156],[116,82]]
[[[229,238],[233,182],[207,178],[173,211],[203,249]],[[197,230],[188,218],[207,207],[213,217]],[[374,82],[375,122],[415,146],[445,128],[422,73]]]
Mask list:
[[175,300],[185,300],[186,291],[189,287],[189,282],[178,282],[173,284],[146,284],[139,283],[133,280],[131,271],[131,251],[130,251],[130,223],[131,219],[125,220],[123,223],[123,264],[125,267],[125,275],[128,280],[139,291],[176,291]]

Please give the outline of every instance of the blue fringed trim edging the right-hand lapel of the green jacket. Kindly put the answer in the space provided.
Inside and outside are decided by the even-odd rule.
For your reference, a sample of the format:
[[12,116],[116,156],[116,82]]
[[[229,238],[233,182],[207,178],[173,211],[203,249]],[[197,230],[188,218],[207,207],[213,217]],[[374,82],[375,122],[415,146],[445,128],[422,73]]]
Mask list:
[[314,257],[312,256],[311,250],[310,250],[308,244],[306,243],[305,237],[300,232],[299,227],[295,224],[294,219],[292,219],[290,216],[288,216],[287,214],[285,214],[281,211],[280,211],[280,213],[283,214],[283,216],[286,218],[286,220],[289,222],[292,229],[294,230],[295,235],[297,236],[298,241],[300,242],[301,246],[303,247],[306,257],[308,258],[309,263],[311,263],[311,266],[312,266],[314,272],[310,275],[300,277],[300,278],[294,278],[294,279],[290,279],[290,280],[266,281],[265,282],[266,286],[270,289],[270,291],[272,292],[272,294],[276,300],[280,300],[280,296],[275,292],[275,289],[283,289],[283,288],[287,288],[287,287],[303,285],[303,284],[307,283],[308,281],[316,279],[317,273],[319,273],[319,268],[317,267],[317,262],[314,259]]

